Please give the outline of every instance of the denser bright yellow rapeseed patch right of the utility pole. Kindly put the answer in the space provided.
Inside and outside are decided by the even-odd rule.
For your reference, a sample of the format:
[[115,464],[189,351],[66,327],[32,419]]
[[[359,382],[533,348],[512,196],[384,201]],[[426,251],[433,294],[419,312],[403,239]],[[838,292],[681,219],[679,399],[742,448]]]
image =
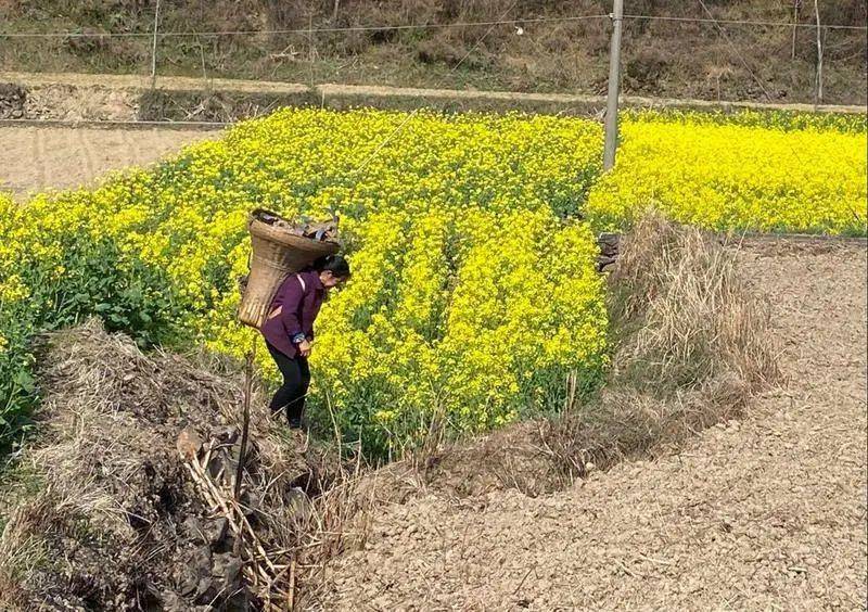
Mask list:
[[592,222],[617,229],[656,208],[712,230],[865,235],[868,143],[856,120],[736,117],[634,115],[588,200]]

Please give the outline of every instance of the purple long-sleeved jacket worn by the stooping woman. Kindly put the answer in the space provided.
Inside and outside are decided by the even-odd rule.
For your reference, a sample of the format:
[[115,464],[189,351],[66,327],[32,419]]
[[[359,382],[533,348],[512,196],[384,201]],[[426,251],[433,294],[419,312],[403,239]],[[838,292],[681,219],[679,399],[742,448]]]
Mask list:
[[[302,289],[298,277],[304,280],[305,289]],[[269,344],[294,359],[298,350],[293,339],[304,335],[308,340],[314,340],[314,320],[324,297],[326,289],[319,280],[319,272],[290,275],[278,288],[268,309],[269,318],[259,331]],[[278,308],[280,314],[276,314]]]

